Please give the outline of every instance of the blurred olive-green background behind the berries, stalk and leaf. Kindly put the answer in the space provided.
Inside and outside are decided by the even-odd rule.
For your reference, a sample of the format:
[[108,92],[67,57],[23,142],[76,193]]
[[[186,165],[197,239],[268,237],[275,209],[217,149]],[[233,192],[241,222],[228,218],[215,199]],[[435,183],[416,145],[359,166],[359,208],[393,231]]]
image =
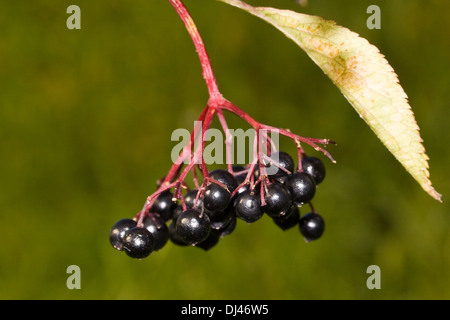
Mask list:
[[[263,123],[338,142],[314,201],[326,231],[305,243],[264,217],[238,221],[208,252],[169,243],[130,259],[110,246],[109,229],[139,211],[171,166],[172,131],[190,130],[207,101],[190,38],[164,0],[3,1],[1,299],[450,298],[450,2],[249,3],[335,20],[380,49],[409,96],[444,202],[279,31],[223,3],[186,0],[226,98]],[[81,30],[66,27],[71,4]],[[371,4],[381,30],[366,27]],[[380,290],[366,287],[373,264]],[[81,268],[80,290],[66,287],[69,265]]]

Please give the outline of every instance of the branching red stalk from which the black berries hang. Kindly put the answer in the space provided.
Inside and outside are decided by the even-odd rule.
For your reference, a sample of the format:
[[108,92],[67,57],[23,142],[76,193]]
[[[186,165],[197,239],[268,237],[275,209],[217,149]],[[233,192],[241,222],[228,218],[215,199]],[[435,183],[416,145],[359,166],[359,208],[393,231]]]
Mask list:
[[[248,115],[246,112],[244,112],[242,109],[231,103],[230,101],[226,100],[222,94],[219,91],[219,88],[217,86],[217,82],[214,76],[214,72],[211,67],[211,62],[209,60],[208,54],[206,53],[205,45],[203,43],[203,40],[200,36],[200,33],[198,32],[198,29],[194,23],[194,20],[190,16],[188,10],[184,6],[184,4],[181,2],[181,0],[169,0],[169,2],[172,4],[172,6],[175,8],[176,12],[178,13],[179,17],[183,21],[189,35],[192,38],[192,42],[194,43],[195,49],[197,51],[198,57],[200,59],[200,64],[203,70],[203,78],[206,82],[206,87],[208,88],[209,93],[209,99],[208,102],[201,112],[200,116],[198,117],[198,121],[201,123],[201,130],[195,130],[191,133],[191,139],[190,142],[184,147],[183,151],[181,152],[179,158],[170,168],[169,172],[165,176],[165,178],[160,182],[158,189],[156,192],[151,194],[145,204],[142,210],[136,215],[135,219],[137,220],[137,224],[139,227],[142,227],[142,221],[145,218],[146,215],[152,216],[150,213],[150,209],[155,202],[158,195],[160,195],[162,192],[174,189],[173,196],[175,199],[179,199],[181,201],[181,204],[183,206],[183,210],[186,210],[186,204],[184,202],[182,189],[188,188],[185,179],[188,173],[192,172],[193,174],[193,180],[196,188],[199,189],[199,192],[197,194],[197,198],[202,196],[202,193],[204,192],[206,186],[211,183],[217,183],[221,186],[223,184],[215,179],[212,179],[209,176],[208,168],[205,164],[205,160],[203,157],[203,151],[205,148],[205,134],[207,130],[211,126],[211,122],[214,119],[215,116],[218,117],[218,120],[220,121],[221,127],[225,133],[226,136],[226,156],[227,156],[227,164],[228,164],[228,171],[233,173],[232,164],[231,164],[231,134],[228,129],[228,125],[224,116],[224,111],[231,112],[244,121],[246,121],[256,132],[255,140],[254,140],[254,148],[253,148],[253,161],[251,164],[249,164],[247,167],[247,176],[246,179],[241,185],[239,185],[238,188],[234,191],[237,192],[240,187],[249,184],[251,188],[254,188],[259,182],[262,182],[260,184],[261,186],[261,205],[265,204],[264,201],[264,195],[263,195],[263,188],[265,185],[269,184],[269,180],[267,179],[267,176],[265,175],[265,166],[264,163],[267,163],[268,161],[271,161],[269,157],[267,157],[266,154],[270,154],[271,150],[275,151],[275,146],[273,145],[269,133],[270,132],[277,132],[281,135],[284,135],[290,139],[293,140],[293,142],[296,144],[297,150],[298,150],[298,160],[299,160],[299,168],[298,171],[302,171],[301,167],[301,158],[305,154],[301,143],[306,143],[310,146],[312,146],[315,150],[323,152],[332,162],[335,162],[331,155],[324,150],[321,145],[327,145],[330,143],[333,143],[333,141],[329,139],[314,139],[314,138],[305,138],[299,135],[296,135],[292,132],[290,132],[288,129],[282,129],[282,128],[276,128],[272,127],[263,123],[260,123],[253,119],[250,115]],[[197,128],[199,129],[199,128]],[[201,132],[200,135],[200,143],[197,145],[196,149],[194,150],[194,141],[196,140],[197,132]],[[183,164],[187,161],[187,165],[183,168]],[[256,166],[259,164],[259,172],[260,175],[258,179],[255,181],[253,178],[254,170],[256,169]],[[277,165],[276,163],[274,163]],[[197,170],[200,170],[203,180],[200,185],[198,181],[197,176]],[[234,194],[233,194],[234,195]]]

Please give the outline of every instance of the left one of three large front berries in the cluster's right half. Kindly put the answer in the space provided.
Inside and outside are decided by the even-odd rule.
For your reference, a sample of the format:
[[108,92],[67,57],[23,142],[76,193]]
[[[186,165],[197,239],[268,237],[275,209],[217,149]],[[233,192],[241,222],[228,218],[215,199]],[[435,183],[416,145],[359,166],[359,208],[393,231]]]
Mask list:
[[247,223],[259,220],[264,214],[260,194],[251,190],[241,193],[234,201],[234,213]]

